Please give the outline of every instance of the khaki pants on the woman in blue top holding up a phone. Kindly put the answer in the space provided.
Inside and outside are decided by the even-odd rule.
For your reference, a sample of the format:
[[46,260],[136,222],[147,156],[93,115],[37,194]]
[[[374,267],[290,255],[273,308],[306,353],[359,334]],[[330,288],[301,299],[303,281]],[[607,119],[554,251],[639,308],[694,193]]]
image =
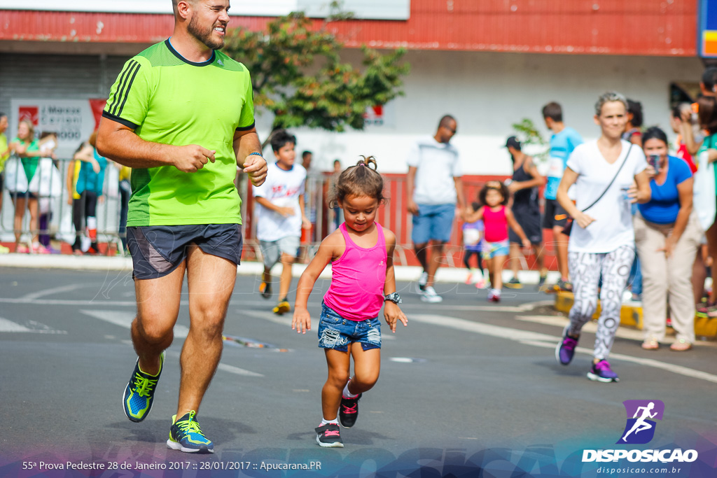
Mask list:
[[645,340],[665,340],[668,300],[670,317],[678,340],[695,341],[695,303],[692,291],[692,265],[703,234],[695,211],[675,244],[665,257],[665,238],[674,224],[655,224],[638,212],[633,218],[635,244],[642,268],[642,315]]

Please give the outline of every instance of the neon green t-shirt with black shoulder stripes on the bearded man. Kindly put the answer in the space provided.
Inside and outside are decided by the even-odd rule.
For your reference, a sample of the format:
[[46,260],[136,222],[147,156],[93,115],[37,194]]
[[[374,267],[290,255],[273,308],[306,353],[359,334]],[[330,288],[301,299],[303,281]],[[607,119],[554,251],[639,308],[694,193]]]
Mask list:
[[181,57],[169,40],[125,63],[103,111],[146,141],[217,150],[196,173],[174,166],[132,170],[128,226],[242,224],[234,178],[237,130],[254,127],[249,72],[222,52],[204,63]]

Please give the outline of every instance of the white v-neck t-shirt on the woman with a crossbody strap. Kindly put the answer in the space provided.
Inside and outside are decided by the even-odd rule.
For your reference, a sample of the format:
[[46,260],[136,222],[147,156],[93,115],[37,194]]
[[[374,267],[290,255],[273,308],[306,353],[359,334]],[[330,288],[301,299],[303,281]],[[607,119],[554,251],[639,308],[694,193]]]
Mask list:
[[[597,148],[597,140],[583,143],[575,148],[568,160],[568,167],[578,173],[575,183],[576,204],[579,211],[590,206],[617,173],[625,160],[630,143],[622,140],[622,152],[612,164],[607,163]],[[570,252],[590,252],[594,254],[612,252],[622,246],[635,244],[635,231],[632,229],[631,204],[625,196],[625,188],[635,181],[635,175],[645,171],[647,162],[642,148],[635,145],[630,157],[625,161],[612,186],[597,201],[597,204],[585,211],[595,221],[581,228],[573,224],[568,250]]]

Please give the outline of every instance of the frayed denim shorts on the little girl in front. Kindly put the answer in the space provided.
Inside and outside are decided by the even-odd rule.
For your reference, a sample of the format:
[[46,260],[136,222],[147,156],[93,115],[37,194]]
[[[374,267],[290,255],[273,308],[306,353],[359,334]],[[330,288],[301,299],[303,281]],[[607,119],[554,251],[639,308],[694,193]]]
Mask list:
[[348,344],[361,343],[361,348],[381,348],[381,321],[379,317],[366,320],[348,320],[338,315],[326,304],[321,304],[318,322],[318,346],[348,351]]

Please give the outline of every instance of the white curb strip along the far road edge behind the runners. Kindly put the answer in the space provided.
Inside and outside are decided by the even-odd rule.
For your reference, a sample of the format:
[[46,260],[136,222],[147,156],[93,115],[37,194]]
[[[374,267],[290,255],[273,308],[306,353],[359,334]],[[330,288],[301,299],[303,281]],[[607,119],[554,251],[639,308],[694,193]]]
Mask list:
[[[67,254],[0,254],[0,267],[131,272],[132,259],[130,257],[72,256]],[[280,274],[281,267],[281,264],[275,265],[272,268],[272,274]],[[242,262],[237,268],[237,274],[258,275],[262,273],[263,269],[264,266],[261,262]],[[293,277],[299,277],[304,269],[306,269],[306,264],[294,264]],[[397,266],[394,269],[396,279],[401,282],[417,280],[422,271],[421,267],[417,266]],[[436,282],[464,282],[467,274],[466,269],[441,267],[436,274]],[[323,279],[331,278],[331,266],[326,267],[321,277]],[[508,281],[512,277],[512,272],[503,271],[504,281]],[[557,272],[548,274],[548,282],[558,282],[559,278]],[[523,284],[535,285],[538,283],[539,274],[537,271],[519,271],[518,279]]]

